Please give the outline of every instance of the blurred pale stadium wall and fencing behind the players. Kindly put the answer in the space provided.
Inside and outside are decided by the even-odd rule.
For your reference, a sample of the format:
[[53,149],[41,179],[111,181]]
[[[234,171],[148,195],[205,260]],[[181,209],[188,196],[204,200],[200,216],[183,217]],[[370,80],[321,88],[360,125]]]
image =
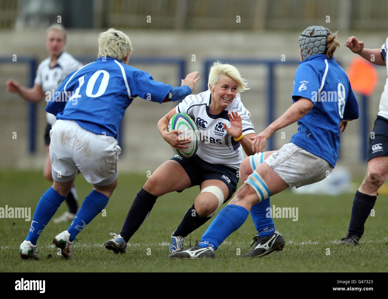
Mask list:
[[[0,0],[0,168],[43,168],[46,102],[36,105],[36,119],[31,119],[32,105],[7,93],[5,81],[13,78],[25,86],[32,84],[35,68],[47,57],[45,28],[59,19],[68,29],[66,51],[83,63],[97,58],[98,34],[115,27],[132,41],[135,50],[130,65],[149,72],[155,80],[176,86],[182,65],[185,73],[198,70],[201,80],[193,93],[205,90],[208,60],[232,62],[251,86],[241,96],[258,133],[270,121],[272,105],[272,117],[277,118],[292,103],[298,36],[303,29],[322,25],[332,32],[338,30],[341,47],[335,57],[346,70],[357,56],[344,46],[346,38],[354,35],[367,48],[379,48],[387,36],[387,15],[385,0]],[[14,54],[16,62],[12,61]],[[155,62],[156,58],[165,63]],[[173,60],[181,62],[171,63]],[[341,138],[338,165],[357,176],[365,173],[362,148],[372,130],[387,76],[385,67],[376,71],[379,80],[367,102],[367,118],[349,123]],[[359,105],[362,108],[360,101]],[[121,130],[121,172],[154,171],[172,156],[156,124],[174,106],[140,98],[133,101]],[[35,137],[31,134],[34,125]],[[277,132],[268,147],[276,149],[288,143],[296,124],[281,131],[285,138]]]

